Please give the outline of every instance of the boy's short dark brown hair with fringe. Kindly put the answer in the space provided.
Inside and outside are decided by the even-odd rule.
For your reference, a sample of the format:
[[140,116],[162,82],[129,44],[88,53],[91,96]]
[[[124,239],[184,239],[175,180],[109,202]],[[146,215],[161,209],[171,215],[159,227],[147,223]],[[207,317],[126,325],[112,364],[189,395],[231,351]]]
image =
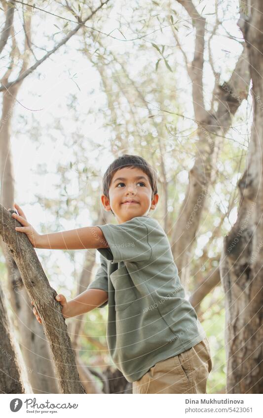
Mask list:
[[148,175],[152,190],[151,198],[153,199],[153,196],[158,193],[157,173],[153,170],[150,164],[139,155],[124,154],[118,157],[109,165],[102,179],[102,193],[109,198],[109,189],[113,176],[117,170],[120,170],[124,167],[140,168],[145,174]]

